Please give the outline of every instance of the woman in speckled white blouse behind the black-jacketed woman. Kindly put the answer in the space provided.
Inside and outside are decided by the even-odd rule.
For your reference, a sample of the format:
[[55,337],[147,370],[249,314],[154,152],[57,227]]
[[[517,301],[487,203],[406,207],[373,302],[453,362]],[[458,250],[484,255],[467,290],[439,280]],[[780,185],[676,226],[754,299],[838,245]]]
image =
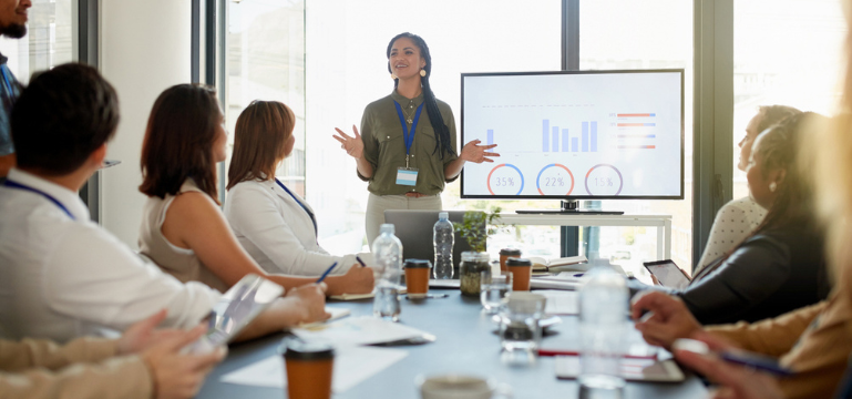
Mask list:
[[[751,117],[746,126],[746,135],[740,141],[740,160],[737,168],[746,172],[751,146],[755,140],[767,127],[781,122],[786,117],[801,113],[801,111],[786,105],[763,105],[758,109],[758,114]],[[716,213],[710,235],[707,237],[707,246],[696,264],[695,273],[699,273],[711,262],[725,256],[742,243],[763,221],[767,209],[758,205],[751,196],[732,200],[722,205]]]

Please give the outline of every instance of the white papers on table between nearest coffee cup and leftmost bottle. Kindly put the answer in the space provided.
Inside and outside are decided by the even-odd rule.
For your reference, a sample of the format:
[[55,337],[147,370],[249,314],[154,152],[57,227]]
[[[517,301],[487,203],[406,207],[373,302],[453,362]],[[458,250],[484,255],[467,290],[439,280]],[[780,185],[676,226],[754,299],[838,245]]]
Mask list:
[[304,340],[333,342],[335,346],[384,344],[429,335],[417,328],[372,316],[347,317],[320,326],[294,328],[291,331]]

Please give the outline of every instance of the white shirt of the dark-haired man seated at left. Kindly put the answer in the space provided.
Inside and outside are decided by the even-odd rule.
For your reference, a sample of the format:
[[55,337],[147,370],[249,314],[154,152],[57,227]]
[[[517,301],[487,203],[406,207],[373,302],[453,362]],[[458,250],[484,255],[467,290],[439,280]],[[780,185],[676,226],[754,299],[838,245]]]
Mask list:
[[91,222],[76,193],[12,168],[0,185],[0,336],[68,341],[113,336],[166,308],[163,327],[192,327],[220,294],[182,284]]

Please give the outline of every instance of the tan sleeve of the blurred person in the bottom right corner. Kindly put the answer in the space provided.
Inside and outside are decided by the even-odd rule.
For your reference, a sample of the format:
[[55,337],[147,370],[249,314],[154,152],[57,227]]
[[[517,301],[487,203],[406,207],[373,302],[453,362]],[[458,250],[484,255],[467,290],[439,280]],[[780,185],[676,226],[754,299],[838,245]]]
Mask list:
[[707,330],[743,349],[780,357],[795,371],[779,380],[788,399],[832,398],[852,352],[849,293],[838,289],[828,300],[776,318]]

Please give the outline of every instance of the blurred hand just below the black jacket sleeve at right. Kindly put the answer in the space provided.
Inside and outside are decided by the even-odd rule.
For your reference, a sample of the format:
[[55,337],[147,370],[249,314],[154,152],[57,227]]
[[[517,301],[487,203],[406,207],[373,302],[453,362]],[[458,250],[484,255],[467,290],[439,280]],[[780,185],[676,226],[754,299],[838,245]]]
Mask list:
[[[704,330],[679,298],[659,291],[637,294],[636,298],[630,307],[633,319],[650,345],[668,349],[675,339],[689,338]],[[648,314],[643,316],[646,310]]]

